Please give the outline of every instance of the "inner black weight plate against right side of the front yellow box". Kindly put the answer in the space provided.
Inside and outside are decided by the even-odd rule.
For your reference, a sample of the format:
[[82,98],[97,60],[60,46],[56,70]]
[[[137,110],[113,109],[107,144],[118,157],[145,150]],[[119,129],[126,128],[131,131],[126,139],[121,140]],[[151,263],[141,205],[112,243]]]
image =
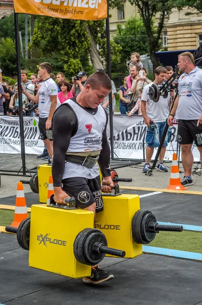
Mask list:
[[76,236],[76,238],[74,240],[74,246],[73,246],[74,256],[77,259],[77,261],[81,264],[86,265],[86,263],[85,263],[86,259],[85,259],[84,253],[83,253],[85,239],[90,234],[95,233],[95,232],[101,232],[101,231],[97,230],[97,229],[93,229],[93,228],[85,228],[80,233],[78,233],[78,235]]

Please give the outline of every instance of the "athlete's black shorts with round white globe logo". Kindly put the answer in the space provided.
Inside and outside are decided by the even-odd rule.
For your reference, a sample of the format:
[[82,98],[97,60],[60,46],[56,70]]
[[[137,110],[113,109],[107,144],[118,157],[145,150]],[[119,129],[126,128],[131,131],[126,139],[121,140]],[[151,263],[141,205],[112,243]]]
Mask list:
[[62,189],[76,199],[76,206],[86,208],[96,203],[96,212],[103,210],[100,176],[94,179],[83,177],[66,178],[62,181]]

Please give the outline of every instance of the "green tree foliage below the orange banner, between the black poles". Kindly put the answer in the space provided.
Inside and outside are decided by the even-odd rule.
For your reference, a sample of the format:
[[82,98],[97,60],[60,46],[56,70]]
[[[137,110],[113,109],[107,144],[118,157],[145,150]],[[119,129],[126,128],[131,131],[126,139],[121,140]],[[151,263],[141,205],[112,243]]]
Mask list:
[[[30,48],[39,48],[40,56],[49,57],[49,61],[52,65],[52,56],[55,58],[56,55],[59,62],[63,63],[63,71],[69,76],[78,73],[78,71],[84,69],[84,67],[92,71],[91,66],[87,65],[87,60],[89,61],[90,55],[92,55],[92,40],[94,46],[101,46],[101,50],[95,56],[101,55],[102,57],[105,57],[106,55],[104,20],[82,21],[41,16],[36,20],[35,25],[36,27]],[[91,39],[89,37],[89,31]],[[120,60],[119,53],[120,46],[112,43],[112,60],[113,58],[118,58],[118,60]],[[94,69],[97,69],[98,66],[100,67],[100,65],[102,65],[101,59],[99,59],[99,62],[96,65],[94,65]],[[53,69],[55,69],[54,65]]]

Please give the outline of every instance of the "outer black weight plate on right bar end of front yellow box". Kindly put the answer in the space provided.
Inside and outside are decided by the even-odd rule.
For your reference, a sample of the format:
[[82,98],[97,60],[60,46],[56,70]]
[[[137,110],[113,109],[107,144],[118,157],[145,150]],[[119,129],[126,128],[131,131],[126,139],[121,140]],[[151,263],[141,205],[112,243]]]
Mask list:
[[102,232],[95,232],[90,234],[84,242],[83,253],[85,256],[86,265],[96,265],[105,257],[105,253],[99,253],[93,250],[93,246],[96,242],[103,243],[103,246],[107,246],[107,240]]

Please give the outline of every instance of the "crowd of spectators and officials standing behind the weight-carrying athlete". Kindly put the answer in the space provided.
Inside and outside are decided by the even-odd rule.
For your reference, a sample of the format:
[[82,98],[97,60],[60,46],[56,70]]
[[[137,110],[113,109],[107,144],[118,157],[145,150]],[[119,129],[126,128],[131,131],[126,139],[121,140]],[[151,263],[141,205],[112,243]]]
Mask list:
[[[186,67],[184,67],[181,64],[182,62],[181,58],[184,58]],[[65,79],[65,74],[63,72],[57,73],[55,77],[51,73],[51,66],[48,65],[50,64],[45,63],[45,66],[43,66],[42,64],[41,68],[39,69],[38,75],[32,74],[30,80],[27,77],[27,72],[25,70],[21,71],[23,113],[25,115],[40,116],[40,124],[39,124],[40,134],[41,134],[41,138],[44,140],[45,147],[43,153],[40,156],[37,156],[37,158],[44,160],[48,160],[48,158],[51,158],[53,154],[52,145],[51,145],[51,141],[52,141],[51,119],[55,109],[59,107],[59,105],[65,103],[67,100],[74,99],[75,97],[77,97],[85,88],[86,83],[88,82],[88,75],[85,71],[80,71],[76,76],[72,77],[71,82],[69,82],[68,80]],[[183,74],[182,77],[180,77],[179,80],[180,81],[182,81],[183,79],[185,80],[186,79],[185,76],[189,74],[192,70],[195,72],[196,69],[194,66],[193,55],[189,52],[182,53],[179,56],[178,67],[180,68],[181,73],[185,73]],[[193,69],[190,70],[191,68]],[[202,70],[198,69],[197,74],[200,75],[201,71]],[[96,72],[105,73],[103,69],[98,69]],[[175,102],[175,107],[171,111],[171,113],[170,113],[170,108],[172,105],[172,101],[174,100],[175,89],[171,89],[170,87],[167,97],[160,96],[158,103],[154,103],[154,101],[149,96],[150,86],[152,86],[152,84],[154,83],[157,84],[157,86],[160,88],[162,84],[165,81],[167,81],[173,73],[174,73],[174,69],[171,66],[166,66],[166,67],[159,66],[154,71],[155,80],[152,82],[147,77],[147,70],[145,67],[143,67],[141,63],[139,53],[132,53],[131,61],[129,64],[129,75],[124,78],[124,84],[119,88],[119,96],[120,96],[119,110],[121,114],[128,114],[129,117],[132,115],[143,116],[145,124],[148,126],[147,136],[146,136],[146,142],[147,142],[146,163],[142,169],[143,173],[146,173],[148,168],[150,167],[150,162],[153,156],[154,148],[159,146],[168,116],[169,116],[168,124],[169,126],[171,126],[170,117],[173,117],[173,115],[176,112],[176,109],[177,110],[180,109],[177,111],[178,115],[179,112],[183,111],[182,102],[178,103],[178,100],[181,101],[183,99],[186,100],[186,103],[188,103],[190,97],[194,99],[194,94],[192,93],[193,90],[192,84],[190,85],[189,82],[189,85],[187,85],[186,83],[184,84],[185,88],[183,87],[183,85],[182,87],[184,88],[184,90],[186,90],[189,89],[188,86],[191,86],[190,91],[187,91],[186,92],[187,94],[185,95],[184,92],[181,92],[180,94],[180,90],[179,90],[179,96]],[[194,76],[190,76],[190,79],[192,79],[191,77],[194,78],[195,74]],[[0,69],[0,83],[2,83],[1,69]],[[201,84],[199,84],[199,87],[201,88]],[[51,89],[49,90],[49,88]],[[193,88],[195,90],[194,85]],[[44,97],[45,89],[48,89],[48,94],[47,96]],[[111,80],[111,94],[112,94],[112,110],[114,111],[114,109],[116,108],[115,95],[117,94],[117,89],[112,80]],[[54,96],[54,98],[52,98],[52,96]],[[51,106],[48,107],[45,111],[42,110],[40,111],[40,107],[43,110],[45,109],[45,107],[42,107],[42,105],[47,104],[48,103],[47,101]],[[178,104],[179,107],[176,108]],[[199,102],[196,102],[196,108],[198,110],[200,109],[199,104],[200,104]],[[105,109],[106,113],[109,113],[109,95],[104,97],[104,100],[102,101],[101,105],[102,108]],[[19,109],[19,101],[18,101],[17,83],[14,86],[10,87],[7,82],[3,82],[2,85],[0,85],[0,115],[2,114],[17,115],[19,113],[18,109]],[[198,120],[196,111],[194,112],[194,117],[192,114],[186,116],[185,113],[183,113],[182,116],[179,115],[180,124],[179,124],[179,132],[178,132],[178,141],[182,147],[182,159],[185,160],[184,161],[185,165],[183,164],[183,166],[185,166],[185,168],[186,167],[188,168],[187,170],[185,170],[185,177],[182,180],[182,184],[184,186],[192,184],[190,165],[189,166],[187,165],[190,164],[190,160],[193,161],[193,157],[191,157],[192,154],[190,153],[190,144],[194,140],[196,146],[199,147],[198,148],[199,151],[200,151],[200,145],[202,146],[202,140],[201,140],[202,137],[200,138],[201,133],[199,130],[201,126],[200,125],[201,121],[199,120],[199,123],[197,121],[197,126],[195,129],[192,126],[194,131],[188,132],[188,129],[191,128],[191,124],[190,125],[187,124],[189,121],[187,117],[191,118],[191,120],[192,119]],[[181,120],[184,122],[184,124],[182,123]],[[154,123],[154,126],[151,126],[152,123]],[[184,144],[184,141],[186,142],[186,140],[184,140],[184,138],[186,138],[184,133],[187,134],[187,138],[191,142],[186,144],[188,146]],[[168,129],[167,135],[165,137],[163,147],[161,149],[159,156],[159,163],[157,165],[157,170],[162,172],[167,172],[167,168],[163,164],[163,159],[165,155],[166,146],[169,140],[170,140],[170,128]],[[187,157],[185,157],[186,154],[187,156],[189,156],[189,160],[187,160]]]

